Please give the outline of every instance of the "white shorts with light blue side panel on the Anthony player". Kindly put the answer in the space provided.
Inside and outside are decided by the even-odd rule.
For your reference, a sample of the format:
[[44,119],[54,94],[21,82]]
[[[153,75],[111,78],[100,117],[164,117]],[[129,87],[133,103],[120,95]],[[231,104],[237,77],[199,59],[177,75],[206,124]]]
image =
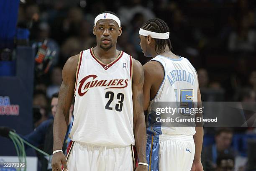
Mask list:
[[192,135],[148,136],[146,157],[149,171],[190,171],[194,155]]

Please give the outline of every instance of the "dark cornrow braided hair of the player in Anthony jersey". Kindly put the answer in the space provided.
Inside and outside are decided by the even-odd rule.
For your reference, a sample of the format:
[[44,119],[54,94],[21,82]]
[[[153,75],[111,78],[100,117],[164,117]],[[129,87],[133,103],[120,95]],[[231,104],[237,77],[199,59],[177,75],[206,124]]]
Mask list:
[[[159,18],[154,18],[151,20],[146,21],[141,27],[143,30],[153,31],[156,33],[166,33],[169,32],[168,25]],[[157,54],[161,54],[165,52],[165,46],[168,45],[169,49],[172,51],[172,44],[170,38],[168,39],[159,39],[155,38],[156,46],[155,51]]]

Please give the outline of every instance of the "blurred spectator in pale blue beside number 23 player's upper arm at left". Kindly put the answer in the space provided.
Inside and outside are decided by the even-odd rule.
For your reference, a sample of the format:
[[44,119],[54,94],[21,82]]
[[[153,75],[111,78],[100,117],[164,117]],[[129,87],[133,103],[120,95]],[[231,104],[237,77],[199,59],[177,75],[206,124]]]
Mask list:
[[51,71],[51,85],[47,87],[47,97],[51,97],[54,93],[59,92],[62,82],[62,68],[55,66]]

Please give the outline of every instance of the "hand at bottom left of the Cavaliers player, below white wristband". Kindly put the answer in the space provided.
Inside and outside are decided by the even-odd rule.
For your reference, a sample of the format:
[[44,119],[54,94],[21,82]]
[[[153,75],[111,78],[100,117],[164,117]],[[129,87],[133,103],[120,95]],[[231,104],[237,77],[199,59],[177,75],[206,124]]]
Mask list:
[[51,160],[52,171],[61,171],[61,163],[64,166],[64,171],[68,171],[65,155],[62,152],[54,153]]

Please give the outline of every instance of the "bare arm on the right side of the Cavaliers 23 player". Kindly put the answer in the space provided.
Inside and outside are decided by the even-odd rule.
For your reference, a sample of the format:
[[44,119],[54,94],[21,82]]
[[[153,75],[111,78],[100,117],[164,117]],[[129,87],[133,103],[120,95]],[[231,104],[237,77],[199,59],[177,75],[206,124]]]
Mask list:
[[[133,59],[133,128],[139,162],[146,161],[146,124],[143,112],[144,72],[141,63]],[[148,167],[139,165],[136,171],[147,171]]]

